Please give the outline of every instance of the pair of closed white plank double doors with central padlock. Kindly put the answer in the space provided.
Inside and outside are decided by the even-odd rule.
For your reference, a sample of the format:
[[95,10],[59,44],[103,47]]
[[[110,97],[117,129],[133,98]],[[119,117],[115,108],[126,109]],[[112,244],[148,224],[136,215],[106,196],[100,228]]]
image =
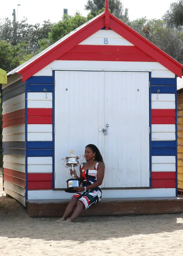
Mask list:
[[149,73],[56,71],[55,80],[55,188],[70,177],[61,159],[90,143],[104,157],[103,187],[149,187]]

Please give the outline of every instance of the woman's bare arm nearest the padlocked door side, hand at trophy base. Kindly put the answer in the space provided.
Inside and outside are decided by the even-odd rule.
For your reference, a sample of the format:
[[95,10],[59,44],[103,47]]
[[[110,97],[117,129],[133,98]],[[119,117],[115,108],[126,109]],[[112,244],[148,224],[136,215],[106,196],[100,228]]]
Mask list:
[[[98,165],[98,169],[97,169],[97,181],[94,182],[92,185],[87,186],[86,187],[87,190],[95,189],[98,186],[100,186],[103,179],[104,179],[104,164],[100,162],[99,165]],[[82,191],[84,191],[84,187],[79,186],[79,187],[74,188],[74,190],[76,190],[77,192],[82,192]]]

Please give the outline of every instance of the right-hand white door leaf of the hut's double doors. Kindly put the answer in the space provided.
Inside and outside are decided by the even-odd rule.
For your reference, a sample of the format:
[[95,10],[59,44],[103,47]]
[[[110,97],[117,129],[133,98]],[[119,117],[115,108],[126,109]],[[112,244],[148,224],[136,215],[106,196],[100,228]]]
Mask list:
[[149,73],[104,74],[103,187],[149,187]]

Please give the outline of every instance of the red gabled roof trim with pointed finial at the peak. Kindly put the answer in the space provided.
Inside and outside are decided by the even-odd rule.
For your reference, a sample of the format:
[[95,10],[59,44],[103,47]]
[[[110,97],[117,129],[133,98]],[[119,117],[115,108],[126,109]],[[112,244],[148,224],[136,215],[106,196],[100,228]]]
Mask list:
[[[60,40],[56,44],[53,44],[53,46],[43,51],[42,54],[33,58],[32,61],[27,62],[26,65],[20,66],[16,69],[17,73],[22,74],[22,79],[25,81],[103,27],[106,27],[106,30],[109,28],[112,29],[135,45],[135,47],[138,47],[155,61],[172,71],[172,73],[182,77],[183,65],[112,15],[108,9],[108,0],[105,1],[104,13],[98,15],[90,22],[85,23],[74,32],[71,32],[63,38],[64,40]],[[14,71],[14,73],[16,71]]]

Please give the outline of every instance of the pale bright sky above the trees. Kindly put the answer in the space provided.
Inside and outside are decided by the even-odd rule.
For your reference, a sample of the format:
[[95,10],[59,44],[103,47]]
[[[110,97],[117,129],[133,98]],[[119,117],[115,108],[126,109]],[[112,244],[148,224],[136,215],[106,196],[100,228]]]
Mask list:
[[[13,9],[16,10],[17,20],[28,18],[31,24],[41,23],[43,20],[58,22],[62,19],[63,9],[68,9],[69,15],[79,11],[86,16],[84,4],[87,0],[0,0],[0,18],[9,17],[13,19]],[[124,8],[128,8],[130,20],[141,17],[147,19],[160,19],[169,9],[171,3],[177,0],[121,0]],[[17,7],[17,4],[20,6]],[[18,13],[17,13],[18,8]]]

